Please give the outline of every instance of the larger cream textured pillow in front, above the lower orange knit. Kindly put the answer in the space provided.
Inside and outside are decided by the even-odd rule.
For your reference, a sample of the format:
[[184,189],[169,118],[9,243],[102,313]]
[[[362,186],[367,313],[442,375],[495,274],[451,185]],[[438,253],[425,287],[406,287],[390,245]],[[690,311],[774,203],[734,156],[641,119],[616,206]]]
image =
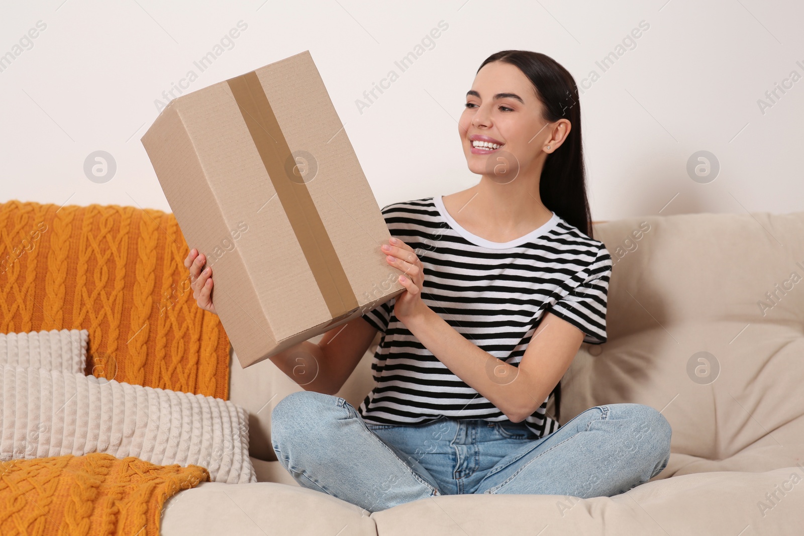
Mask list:
[[228,400],[56,370],[0,366],[0,460],[105,452],[256,482],[248,414]]

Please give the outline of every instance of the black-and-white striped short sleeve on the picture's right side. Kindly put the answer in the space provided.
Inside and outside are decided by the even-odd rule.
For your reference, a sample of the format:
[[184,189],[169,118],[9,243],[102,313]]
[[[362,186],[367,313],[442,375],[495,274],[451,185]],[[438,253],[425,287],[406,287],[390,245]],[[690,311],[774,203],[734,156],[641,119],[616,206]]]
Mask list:
[[601,248],[592,264],[578,272],[583,280],[548,310],[584,332],[584,342],[606,342],[605,313],[611,278],[612,260],[609,251]]

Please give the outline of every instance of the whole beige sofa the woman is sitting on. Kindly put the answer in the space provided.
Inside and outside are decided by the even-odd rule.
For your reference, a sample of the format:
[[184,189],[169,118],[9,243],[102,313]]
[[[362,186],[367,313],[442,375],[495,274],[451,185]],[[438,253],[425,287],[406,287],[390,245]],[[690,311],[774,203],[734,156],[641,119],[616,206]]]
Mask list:
[[[178,493],[162,534],[804,534],[804,212],[629,218],[595,238],[615,259],[609,340],[580,348],[561,420],[605,403],[662,411],[672,454],[657,477],[615,497],[451,495],[369,514],[285,472],[269,418],[301,388],[233,359],[260,482]],[[378,341],[338,393],[355,407]]]

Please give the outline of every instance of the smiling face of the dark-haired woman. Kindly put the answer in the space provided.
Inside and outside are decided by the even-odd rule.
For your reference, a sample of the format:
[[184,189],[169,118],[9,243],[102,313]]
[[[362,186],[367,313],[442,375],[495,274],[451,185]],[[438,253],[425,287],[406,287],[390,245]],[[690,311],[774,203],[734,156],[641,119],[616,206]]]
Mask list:
[[[466,93],[466,109],[458,121],[472,173],[506,183],[528,170],[540,170],[545,151],[552,152],[559,145],[552,142],[559,121],[548,124],[542,109],[533,84],[519,68],[498,61],[486,63]],[[561,130],[568,133],[568,121],[560,123],[566,124]],[[476,141],[499,147],[476,147]]]

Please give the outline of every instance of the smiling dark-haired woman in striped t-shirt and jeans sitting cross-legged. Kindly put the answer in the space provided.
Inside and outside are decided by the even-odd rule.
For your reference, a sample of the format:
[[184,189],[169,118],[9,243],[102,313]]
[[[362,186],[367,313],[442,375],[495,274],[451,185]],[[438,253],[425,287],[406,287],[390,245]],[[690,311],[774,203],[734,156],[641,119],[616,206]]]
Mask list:
[[[480,182],[383,209],[381,251],[406,290],[272,358],[305,389],[277,403],[271,432],[300,485],[373,512],[457,493],[612,496],[667,466],[671,428],[652,407],[605,404],[560,428],[546,411],[580,345],[606,341],[612,261],[591,238],[576,96],[547,55],[487,58],[458,125]],[[215,312],[204,262],[193,249],[185,264]],[[375,387],[355,408],[334,393],[377,330]]]

